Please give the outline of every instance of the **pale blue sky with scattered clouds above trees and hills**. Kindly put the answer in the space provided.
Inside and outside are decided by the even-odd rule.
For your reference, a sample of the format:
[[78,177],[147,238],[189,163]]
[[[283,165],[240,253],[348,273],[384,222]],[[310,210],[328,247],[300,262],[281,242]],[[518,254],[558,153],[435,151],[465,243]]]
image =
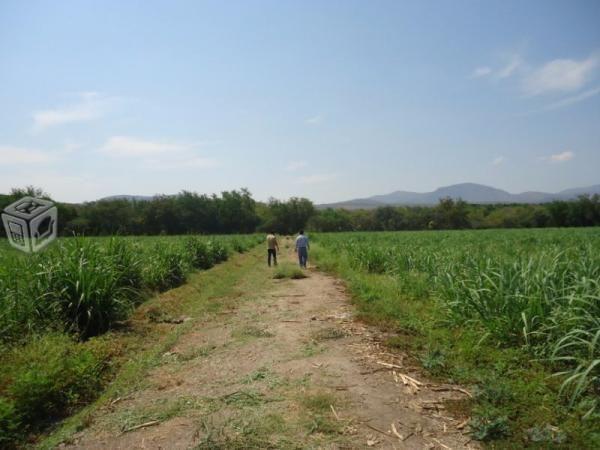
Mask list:
[[0,1],[0,192],[600,183],[600,2]]

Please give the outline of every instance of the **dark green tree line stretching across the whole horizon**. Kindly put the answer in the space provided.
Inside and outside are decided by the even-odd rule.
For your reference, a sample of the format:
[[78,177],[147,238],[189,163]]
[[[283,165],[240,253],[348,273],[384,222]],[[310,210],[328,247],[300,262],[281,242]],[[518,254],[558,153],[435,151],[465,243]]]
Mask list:
[[[0,195],[0,209],[30,195],[28,187]],[[257,202],[247,189],[204,195],[182,191],[151,200],[106,199],[56,203],[59,234],[230,234],[274,231],[399,231],[426,229],[543,228],[600,225],[600,196],[539,205],[474,205],[444,198],[435,206],[383,206],[371,210],[317,209],[305,198]],[[0,236],[4,235],[2,230]]]

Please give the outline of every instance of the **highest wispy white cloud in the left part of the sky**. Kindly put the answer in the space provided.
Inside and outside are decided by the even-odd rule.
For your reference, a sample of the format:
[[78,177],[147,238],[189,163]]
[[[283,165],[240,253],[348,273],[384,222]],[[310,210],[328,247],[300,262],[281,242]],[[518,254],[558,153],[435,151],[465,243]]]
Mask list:
[[82,92],[76,95],[75,102],[52,109],[33,113],[33,131],[75,122],[88,122],[104,116],[116,99],[97,92]]

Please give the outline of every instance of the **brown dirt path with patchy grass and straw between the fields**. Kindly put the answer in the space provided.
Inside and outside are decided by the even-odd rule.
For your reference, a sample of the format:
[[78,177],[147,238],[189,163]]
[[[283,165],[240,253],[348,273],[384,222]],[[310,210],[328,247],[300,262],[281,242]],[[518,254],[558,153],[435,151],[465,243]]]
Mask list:
[[[165,324],[173,344],[60,447],[477,448],[467,418],[445,408],[469,393],[428,382],[388,353],[386,336],[353,319],[335,278],[309,269],[291,279],[285,245],[285,278],[273,278],[262,249],[223,264],[241,276],[212,299],[221,307]],[[203,289],[195,283],[152,307]]]

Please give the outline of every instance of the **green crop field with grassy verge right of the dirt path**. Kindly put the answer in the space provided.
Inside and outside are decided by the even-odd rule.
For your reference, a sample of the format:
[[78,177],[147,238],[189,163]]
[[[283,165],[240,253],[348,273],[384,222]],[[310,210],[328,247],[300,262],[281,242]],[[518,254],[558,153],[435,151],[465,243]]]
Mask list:
[[481,392],[469,406],[475,438],[495,448],[600,445],[600,229],[313,242],[313,258],[346,280],[359,317],[397,334],[391,346],[431,376]]

